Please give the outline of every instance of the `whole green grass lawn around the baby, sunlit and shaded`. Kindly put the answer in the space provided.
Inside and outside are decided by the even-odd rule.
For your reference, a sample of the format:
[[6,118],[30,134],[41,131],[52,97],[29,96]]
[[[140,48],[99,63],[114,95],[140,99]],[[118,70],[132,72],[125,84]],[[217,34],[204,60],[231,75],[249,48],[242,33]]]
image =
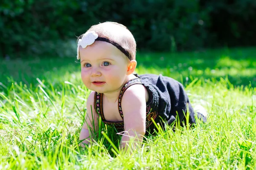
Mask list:
[[[137,73],[182,82],[206,124],[167,129],[117,154],[99,133],[78,146],[89,94],[73,58],[0,60],[0,169],[255,169],[256,48],[139,53]],[[102,126],[118,146],[113,128]]]

